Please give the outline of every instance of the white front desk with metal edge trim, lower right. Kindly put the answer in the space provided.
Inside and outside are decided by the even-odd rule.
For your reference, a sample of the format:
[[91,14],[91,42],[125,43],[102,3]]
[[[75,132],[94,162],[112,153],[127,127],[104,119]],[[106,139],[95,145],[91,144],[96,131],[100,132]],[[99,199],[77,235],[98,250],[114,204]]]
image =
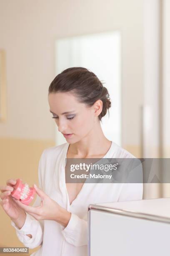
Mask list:
[[170,198],[89,205],[88,256],[170,256]]

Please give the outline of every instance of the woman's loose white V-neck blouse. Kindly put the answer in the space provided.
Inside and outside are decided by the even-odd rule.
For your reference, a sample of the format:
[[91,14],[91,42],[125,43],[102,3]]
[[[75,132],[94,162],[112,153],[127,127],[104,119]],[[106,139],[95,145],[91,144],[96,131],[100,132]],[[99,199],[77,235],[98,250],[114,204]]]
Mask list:
[[[87,256],[88,206],[95,203],[142,200],[142,183],[84,183],[72,201],[65,184],[65,159],[69,143],[47,148],[42,152],[38,166],[39,187],[67,211],[71,218],[66,227],[54,220],[35,220],[26,213],[21,229],[11,225],[24,246],[40,248],[31,256]],[[103,158],[135,158],[112,141]],[[40,205],[37,196],[32,206]],[[99,227],[100,228],[100,227]],[[32,238],[26,236],[31,234]]]

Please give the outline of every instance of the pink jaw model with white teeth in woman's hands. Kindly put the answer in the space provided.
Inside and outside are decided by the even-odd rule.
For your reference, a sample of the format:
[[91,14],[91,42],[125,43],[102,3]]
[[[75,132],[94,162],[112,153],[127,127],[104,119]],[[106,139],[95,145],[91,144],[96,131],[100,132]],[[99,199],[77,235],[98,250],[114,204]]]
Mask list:
[[29,187],[27,183],[23,184],[21,179],[17,179],[16,181],[16,184],[13,186],[13,192],[11,192],[12,197],[20,200],[25,205],[29,205],[34,198],[35,189]]

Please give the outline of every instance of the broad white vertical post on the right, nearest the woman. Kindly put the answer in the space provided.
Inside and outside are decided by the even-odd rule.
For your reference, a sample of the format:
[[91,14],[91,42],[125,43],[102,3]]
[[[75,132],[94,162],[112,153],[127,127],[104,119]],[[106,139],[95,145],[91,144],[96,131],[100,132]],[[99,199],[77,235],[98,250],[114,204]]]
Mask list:
[[143,157],[159,157],[160,1],[144,0]]

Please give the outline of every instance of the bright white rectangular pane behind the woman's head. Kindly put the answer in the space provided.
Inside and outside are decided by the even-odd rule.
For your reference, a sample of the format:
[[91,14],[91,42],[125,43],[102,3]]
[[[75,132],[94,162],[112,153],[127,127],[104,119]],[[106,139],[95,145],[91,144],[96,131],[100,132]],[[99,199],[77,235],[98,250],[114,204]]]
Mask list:
[[[86,67],[107,87],[111,99],[109,115],[102,118],[105,136],[121,146],[121,33],[110,31],[58,39],[56,41],[56,74],[69,67]],[[56,129],[56,145],[65,142]]]

